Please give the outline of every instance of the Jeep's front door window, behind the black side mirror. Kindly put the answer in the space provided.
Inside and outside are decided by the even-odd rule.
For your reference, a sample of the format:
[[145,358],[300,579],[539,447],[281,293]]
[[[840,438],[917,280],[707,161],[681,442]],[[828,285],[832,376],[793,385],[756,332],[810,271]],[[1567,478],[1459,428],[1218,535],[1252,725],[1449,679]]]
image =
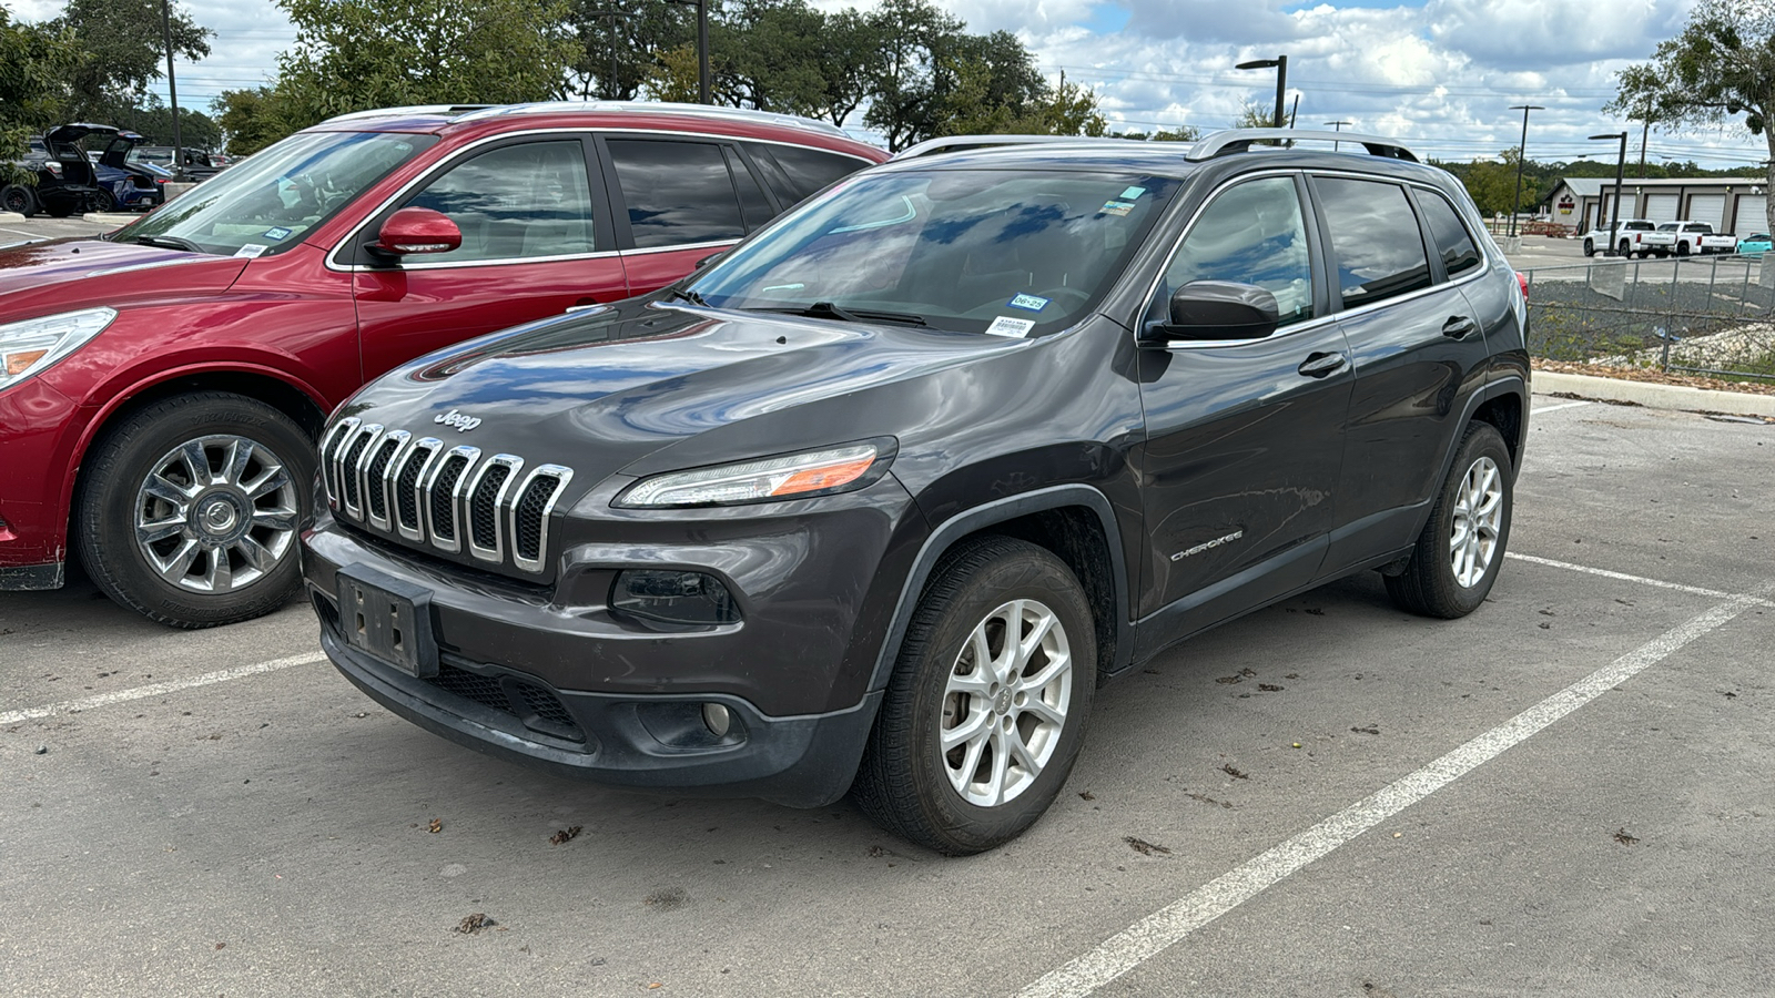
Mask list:
[[1306,224],[1292,178],[1262,178],[1221,192],[1196,217],[1164,270],[1154,309],[1191,281],[1257,284],[1276,297],[1278,327],[1314,318]]

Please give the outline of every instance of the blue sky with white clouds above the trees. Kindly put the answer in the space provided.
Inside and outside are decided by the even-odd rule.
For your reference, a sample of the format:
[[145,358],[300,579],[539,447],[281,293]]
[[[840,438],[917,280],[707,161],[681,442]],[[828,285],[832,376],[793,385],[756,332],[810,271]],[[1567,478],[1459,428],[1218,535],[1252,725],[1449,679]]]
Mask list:
[[[60,0],[0,0],[23,20],[53,18]],[[815,0],[822,7],[852,0]],[[943,2],[943,0],[939,0]],[[1535,160],[1613,158],[1585,137],[1640,128],[1603,114],[1615,73],[1681,30],[1695,0],[948,0],[971,30],[1015,32],[1053,78],[1090,83],[1115,128],[1223,128],[1244,101],[1274,103],[1274,71],[1248,59],[1289,57],[1298,124],[1408,140],[1445,160],[1495,156],[1530,117]],[[264,82],[291,28],[270,0],[185,0],[217,32],[213,55],[179,64],[181,103]],[[163,83],[162,83],[163,87]],[[165,91],[162,89],[162,94]],[[1754,169],[1766,151],[1741,126],[1653,131],[1649,158]]]

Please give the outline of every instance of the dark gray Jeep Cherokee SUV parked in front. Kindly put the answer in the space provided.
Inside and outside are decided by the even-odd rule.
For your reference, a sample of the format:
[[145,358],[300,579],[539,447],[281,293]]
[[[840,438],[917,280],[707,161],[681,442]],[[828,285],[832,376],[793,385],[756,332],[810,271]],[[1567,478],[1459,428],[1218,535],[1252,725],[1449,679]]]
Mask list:
[[850,790],[964,854],[1191,634],[1365,570],[1477,609],[1518,277],[1397,144],[1274,137],[916,147],[667,291],[389,373],[321,439],[327,653],[470,748]]

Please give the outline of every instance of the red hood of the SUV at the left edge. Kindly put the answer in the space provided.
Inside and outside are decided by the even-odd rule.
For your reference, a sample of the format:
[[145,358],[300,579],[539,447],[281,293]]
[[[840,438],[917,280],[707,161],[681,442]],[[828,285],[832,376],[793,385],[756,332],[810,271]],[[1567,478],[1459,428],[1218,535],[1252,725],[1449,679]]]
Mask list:
[[0,321],[140,298],[218,295],[245,266],[240,257],[101,240],[0,249]]

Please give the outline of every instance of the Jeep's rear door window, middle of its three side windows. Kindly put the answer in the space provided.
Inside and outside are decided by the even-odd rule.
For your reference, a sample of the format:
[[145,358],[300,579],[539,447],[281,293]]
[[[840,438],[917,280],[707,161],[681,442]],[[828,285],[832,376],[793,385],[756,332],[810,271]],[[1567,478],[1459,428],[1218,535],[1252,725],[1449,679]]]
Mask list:
[[1431,286],[1416,213],[1395,183],[1317,178],[1338,289],[1360,307]]

